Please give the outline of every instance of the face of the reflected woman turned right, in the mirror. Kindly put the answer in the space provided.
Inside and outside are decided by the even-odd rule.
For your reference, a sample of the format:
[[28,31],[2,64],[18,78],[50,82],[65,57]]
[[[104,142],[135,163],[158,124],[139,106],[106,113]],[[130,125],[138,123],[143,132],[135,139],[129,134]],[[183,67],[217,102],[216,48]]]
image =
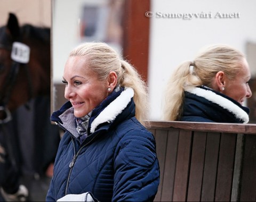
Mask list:
[[243,105],[245,98],[252,96],[252,92],[249,87],[250,79],[250,68],[244,58],[243,63],[241,64],[241,71],[238,72],[235,79],[227,81],[223,94],[235,99],[238,103]]

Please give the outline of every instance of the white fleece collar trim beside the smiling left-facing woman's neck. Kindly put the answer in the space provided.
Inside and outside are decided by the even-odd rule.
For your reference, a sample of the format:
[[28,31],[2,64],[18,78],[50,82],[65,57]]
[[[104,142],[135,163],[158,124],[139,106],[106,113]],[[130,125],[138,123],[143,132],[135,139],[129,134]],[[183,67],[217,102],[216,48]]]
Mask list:
[[125,88],[125,90],[93,120],[90,132],[93,133],[101,123],[114,121],[116,116],[131,102],[133,95],[134,91],[132,88]]

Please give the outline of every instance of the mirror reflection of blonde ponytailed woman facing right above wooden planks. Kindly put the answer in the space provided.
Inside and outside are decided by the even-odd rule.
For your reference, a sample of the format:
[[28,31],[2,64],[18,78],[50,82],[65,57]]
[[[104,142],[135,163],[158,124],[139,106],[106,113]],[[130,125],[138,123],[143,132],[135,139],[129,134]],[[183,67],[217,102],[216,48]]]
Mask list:
[[194,61],[181,63],[166,86],[164,120],[249,122],[251,73],[245,55],[228,45],[212,45]]

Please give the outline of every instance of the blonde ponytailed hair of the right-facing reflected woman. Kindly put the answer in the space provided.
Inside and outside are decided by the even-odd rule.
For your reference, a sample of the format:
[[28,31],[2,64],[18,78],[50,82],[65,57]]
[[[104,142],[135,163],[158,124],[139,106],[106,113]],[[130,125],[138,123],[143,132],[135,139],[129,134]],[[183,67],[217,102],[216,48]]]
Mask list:
[[229,79],[234,79],[241,70],[244,57],[231,46],[212,45],[199,52],[194,61],[185,61],[177,66],[165,90],[164,120],[179,120],[186,89],[201,85],[211,88],[212,79],[219,71],[225,72]]

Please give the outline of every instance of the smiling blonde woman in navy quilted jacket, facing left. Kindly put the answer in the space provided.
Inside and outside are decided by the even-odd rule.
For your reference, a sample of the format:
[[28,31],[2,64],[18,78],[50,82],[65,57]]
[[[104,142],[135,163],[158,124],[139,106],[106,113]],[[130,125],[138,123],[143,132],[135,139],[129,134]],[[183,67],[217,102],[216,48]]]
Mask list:
[[159,184],[147,86],[105,43],[84,43],[63,72],[68,102],[51,120],[65,130],[46,201],[153,201]]

